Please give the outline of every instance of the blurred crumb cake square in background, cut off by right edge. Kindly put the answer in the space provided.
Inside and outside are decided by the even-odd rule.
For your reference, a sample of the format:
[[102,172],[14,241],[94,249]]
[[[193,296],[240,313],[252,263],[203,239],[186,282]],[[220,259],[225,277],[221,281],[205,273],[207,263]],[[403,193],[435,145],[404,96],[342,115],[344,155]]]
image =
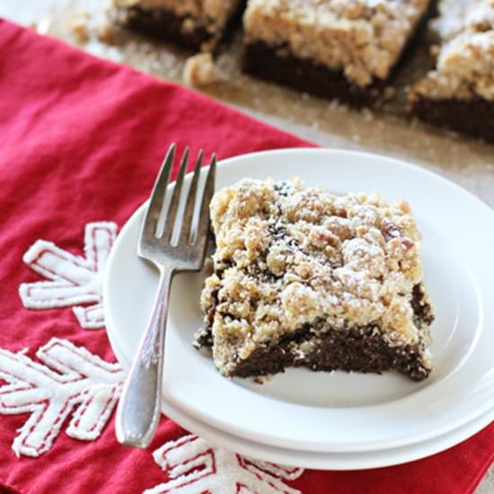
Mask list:
[[409,94],[410,114],[494,142],[494,2],[442,0],[437,65]]

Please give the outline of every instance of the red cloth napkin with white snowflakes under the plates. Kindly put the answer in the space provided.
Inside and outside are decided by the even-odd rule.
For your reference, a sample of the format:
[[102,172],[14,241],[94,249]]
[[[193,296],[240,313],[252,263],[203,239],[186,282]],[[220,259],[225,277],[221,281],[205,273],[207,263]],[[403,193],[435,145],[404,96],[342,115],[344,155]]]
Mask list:
[[463,494],[481,481],[492,425],[442,454],[362,472],[248,461],[164,418],[146,451],[119,445],[122,372],[98,288],[117,225],[145,200],[172,142],[219,158],[308,143],[1,20],[0,138],[5,490]]

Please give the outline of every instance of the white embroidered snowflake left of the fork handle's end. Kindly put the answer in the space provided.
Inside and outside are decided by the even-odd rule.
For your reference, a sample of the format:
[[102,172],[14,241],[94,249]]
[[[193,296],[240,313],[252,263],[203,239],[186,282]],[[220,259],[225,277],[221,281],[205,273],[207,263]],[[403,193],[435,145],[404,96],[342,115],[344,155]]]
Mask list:
[[24,351],[0,348],[0,380],[7,383],[0,386],[0,413],[31,413],[13,439],[13,452],[45,453],[70,414],[68,436],[86,441],[99,437],[119,399],[125,377],[119,364],[57,338],[38,349],[43,364]]

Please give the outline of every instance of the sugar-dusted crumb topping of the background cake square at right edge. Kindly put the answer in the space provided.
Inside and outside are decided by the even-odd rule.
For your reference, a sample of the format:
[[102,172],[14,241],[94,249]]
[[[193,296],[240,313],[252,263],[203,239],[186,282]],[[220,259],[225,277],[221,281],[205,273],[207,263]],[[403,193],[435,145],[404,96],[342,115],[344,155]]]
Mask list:
[[411,98],[494,101],[494,1],[443,0],[439,13],[437,66]]

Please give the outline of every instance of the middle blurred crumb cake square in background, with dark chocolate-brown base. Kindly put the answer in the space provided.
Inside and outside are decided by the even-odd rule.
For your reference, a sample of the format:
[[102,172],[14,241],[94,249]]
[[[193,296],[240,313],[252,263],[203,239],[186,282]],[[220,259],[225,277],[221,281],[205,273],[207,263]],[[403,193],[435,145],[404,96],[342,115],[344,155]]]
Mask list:
[[326,98],[375,101],[429,0],[249,0],[245,72]]

